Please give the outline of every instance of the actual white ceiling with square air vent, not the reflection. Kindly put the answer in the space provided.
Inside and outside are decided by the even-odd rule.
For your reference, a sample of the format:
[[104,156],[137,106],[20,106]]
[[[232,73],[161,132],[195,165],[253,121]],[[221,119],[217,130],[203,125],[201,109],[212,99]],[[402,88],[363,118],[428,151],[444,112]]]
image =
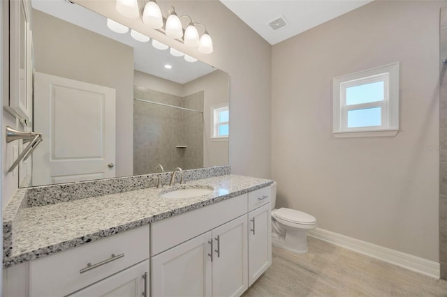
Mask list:
[[[271,45],[348,13],[372,0],[220,0]],[[269,23],[284,16],[286,26]]]

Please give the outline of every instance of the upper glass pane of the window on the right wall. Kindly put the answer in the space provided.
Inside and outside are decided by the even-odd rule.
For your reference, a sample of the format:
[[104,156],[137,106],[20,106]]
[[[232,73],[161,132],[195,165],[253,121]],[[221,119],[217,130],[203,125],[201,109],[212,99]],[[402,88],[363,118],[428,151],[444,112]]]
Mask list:
[[382,101],[384,87],[384,82],[373,82],[346,88],[346,105]]

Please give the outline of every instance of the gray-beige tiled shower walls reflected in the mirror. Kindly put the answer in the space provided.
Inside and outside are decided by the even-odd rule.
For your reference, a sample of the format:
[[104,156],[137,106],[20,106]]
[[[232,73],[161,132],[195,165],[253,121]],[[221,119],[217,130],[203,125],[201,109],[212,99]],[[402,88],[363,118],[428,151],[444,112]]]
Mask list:
[[[184,98],[135,86],[134,97],[203,112],[203,91]],[[176,148],[175,146],[187,146]],[[133,174],[203,167],[203,114],[134,101]]]

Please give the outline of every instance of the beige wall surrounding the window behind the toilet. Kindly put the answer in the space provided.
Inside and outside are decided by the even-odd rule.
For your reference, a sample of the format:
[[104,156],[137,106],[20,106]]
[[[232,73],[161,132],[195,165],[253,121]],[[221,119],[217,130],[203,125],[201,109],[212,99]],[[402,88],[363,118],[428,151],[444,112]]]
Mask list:
[[[277,207],[318,227],[439,260],[439,8],[373,1],[272,49]],[[335,139],[332,78],[400,61],[400,132]]]

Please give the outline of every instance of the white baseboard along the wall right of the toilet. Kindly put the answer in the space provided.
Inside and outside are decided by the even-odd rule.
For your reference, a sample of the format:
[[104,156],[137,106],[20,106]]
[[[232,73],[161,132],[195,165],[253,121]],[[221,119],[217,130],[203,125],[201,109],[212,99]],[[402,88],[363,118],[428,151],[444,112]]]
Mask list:
[[397,266],[409,269],[410,271],[422,273],[423,275],[435,277],[437,279],[440,277],[440,266],[439,263],[435,261],[416,257],[404,252],[398,252],[397,250],[383,248],[380,245],[360,241],[356,238],[344,236],[342,234],[321,228],[310,230],[307,235],[321,239],[322,241],[327,241],[328,243],[332,243],[334,245],[339,245],[349,250],[353,250],[354,252],[359,252],[360,254],[365,254],[381,261],[386,261],[390,264],[395,264]]

